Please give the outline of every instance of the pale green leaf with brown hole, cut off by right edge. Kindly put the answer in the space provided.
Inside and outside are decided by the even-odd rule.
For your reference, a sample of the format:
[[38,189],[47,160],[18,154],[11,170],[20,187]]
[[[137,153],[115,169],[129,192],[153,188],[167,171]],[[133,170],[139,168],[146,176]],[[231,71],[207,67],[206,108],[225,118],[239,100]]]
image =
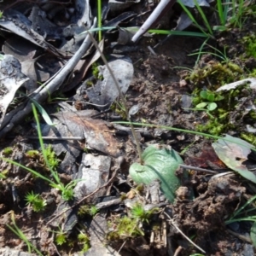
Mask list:
[[247,166],[242,163],[247,160],[247,155],[251,153],[254,146],[246,141],[226,135],[224,139],[220,138],[216,143],[212,143],[215,153],[224,164],[231,170],[238,172],[242,177],[256,183],[256,176],[248,171]]

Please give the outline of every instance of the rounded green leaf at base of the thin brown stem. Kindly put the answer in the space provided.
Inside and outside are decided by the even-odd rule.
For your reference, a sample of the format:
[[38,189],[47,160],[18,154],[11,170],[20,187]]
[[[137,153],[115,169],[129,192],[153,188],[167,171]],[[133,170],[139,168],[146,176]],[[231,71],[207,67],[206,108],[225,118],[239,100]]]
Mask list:
[[159,180],[162,192],[173,202],[175,191],[180,186],[180,180],[175,172],[179,164],[183,163],[181,157],[171,147],[154,144],[143,152],[143,162],[143,166],[139,163],[131,165],[131,178],[138,184],[147,185]]

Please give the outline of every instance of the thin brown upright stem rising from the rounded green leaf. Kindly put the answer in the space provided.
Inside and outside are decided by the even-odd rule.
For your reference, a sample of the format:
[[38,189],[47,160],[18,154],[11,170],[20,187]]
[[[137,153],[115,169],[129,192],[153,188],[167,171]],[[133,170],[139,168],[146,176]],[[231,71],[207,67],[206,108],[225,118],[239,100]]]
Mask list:
[[113,71],[112,69],[109,67],[108,65],[108,61],[106,60],[105,56],[103,55],[102,53],[102,50],[99,48],[95,38],[90,34],[90,32],[88,32],[89,36],[90,36],[90,40],[91,42],[95,45],[96,49],[98,50],[98,52],[100,53],[101,57],[102,57],[102,61],[104,62],[104,64],[106,65],[106,67],[108,68],[108,72],[110,73],[111,77],[113,78],[113,82],[117,88],[117,90],[119,91],[119,96],[121,97],[121,100],[124,104],[124,107],[125,107],[125,114],[126,114],[126,117],[129,121],[129,125],[131,125],[131,133],[132,133],[132,136],[134,137],[135,141],[136,141],[136,146],[137,146],[137,154],[139,155],[139,159],[140,159],[140,164],[143,165],[143,158],[142,158],[142,148],[140,147],[140,144],[139,144],[139,141],[137,139],[137,135],[136,135],[136,132],[134,130],[134,127],[133,125],[131,124],[131,118],[130,118],[130,114],[129,114],[129,111],[128,111],[128,108],[127,108],[127,105],[126,105],[126,101],[125,101],[125,96],[124,94],[122,93],[122,91],[120,90],[120,87],[119,87],[119,83],[117,81],[117,79],[115,78],[114,74],[113,74]]

